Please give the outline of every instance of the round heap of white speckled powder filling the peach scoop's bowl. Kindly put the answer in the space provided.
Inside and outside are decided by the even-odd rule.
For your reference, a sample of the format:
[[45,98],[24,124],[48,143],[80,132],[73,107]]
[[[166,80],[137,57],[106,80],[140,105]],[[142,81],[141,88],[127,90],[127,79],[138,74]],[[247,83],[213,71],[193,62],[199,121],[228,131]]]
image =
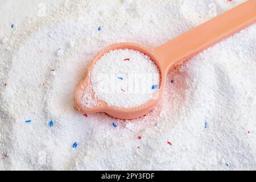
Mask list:
[[135,107],[156,96],[159,71],[149,56],[117,49],[105,53],[93,65],[91,79],[98,99],[112,106]]

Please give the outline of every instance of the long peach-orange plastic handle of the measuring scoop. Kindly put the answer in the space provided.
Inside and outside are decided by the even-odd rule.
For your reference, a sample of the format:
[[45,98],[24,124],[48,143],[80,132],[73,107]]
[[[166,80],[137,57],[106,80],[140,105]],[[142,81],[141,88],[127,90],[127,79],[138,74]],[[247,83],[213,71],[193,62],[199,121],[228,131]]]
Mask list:
[[249,0],[154,48],[154,55],[167,72],[204,49],[256,22],[256,0]]

